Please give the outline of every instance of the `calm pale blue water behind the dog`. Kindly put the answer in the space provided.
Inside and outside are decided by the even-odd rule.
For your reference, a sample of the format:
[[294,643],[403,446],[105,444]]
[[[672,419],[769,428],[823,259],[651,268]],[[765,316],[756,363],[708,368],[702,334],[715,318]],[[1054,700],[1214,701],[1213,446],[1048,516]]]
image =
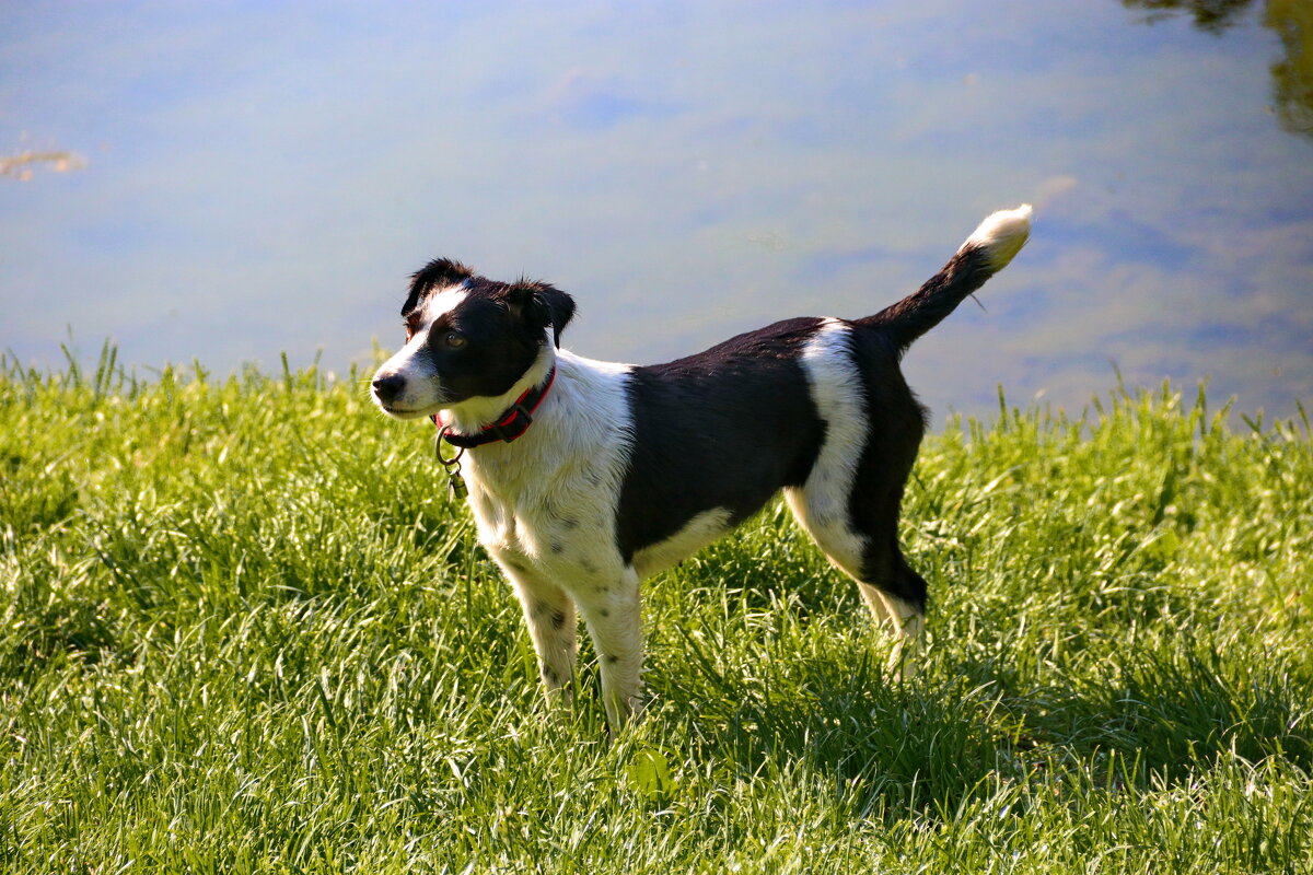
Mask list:
[[1079,411],[1115,367],[1289,415],[1313,400],[1313,12],[1205,8],[1232,18],[1157,0],[9,9],[0,153],[72,155],[0,178],[0,349],[59,365],[71,327],[142,367],[285,350],[341,371],[399,342],[404,281],[442,254],[571,291],[576,352],[659,361],[874,312],[1028,201],[1032,241],[983,308],[909,354],[936,417],[987,415],[999,383]]

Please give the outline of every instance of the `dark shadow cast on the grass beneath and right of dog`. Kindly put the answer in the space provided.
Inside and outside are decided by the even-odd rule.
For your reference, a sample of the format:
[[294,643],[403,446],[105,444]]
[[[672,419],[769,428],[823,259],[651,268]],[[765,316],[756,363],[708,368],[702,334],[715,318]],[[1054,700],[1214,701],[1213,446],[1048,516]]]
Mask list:
[[781,669],[786,682],[769,670],[742,681],[702,673],[716,689],[696,691],[696,714],[679,710],[741,774],[806,765],[855,816],[936,816],[995,782],[1064,770],[1137,786],[1186,782],[1234,757],[1313,770],[1308,680],[1280,664],[1236,677],[1236,665],[1211,651],[1130,651],[1088,677],[1024,686],[979,662],[953,665],[947,681],[936,672],[890,682],[869,655],[827,655]]

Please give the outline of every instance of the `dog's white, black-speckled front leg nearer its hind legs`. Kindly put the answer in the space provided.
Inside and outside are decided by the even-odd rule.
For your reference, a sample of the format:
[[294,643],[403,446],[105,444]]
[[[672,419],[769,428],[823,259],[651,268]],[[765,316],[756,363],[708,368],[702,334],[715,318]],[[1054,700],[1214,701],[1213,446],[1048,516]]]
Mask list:
[[576,593],[601,668],[601,699],[612,729],[642,708],[643,631],[638,575],[625,568],[620,580],[592,582]]

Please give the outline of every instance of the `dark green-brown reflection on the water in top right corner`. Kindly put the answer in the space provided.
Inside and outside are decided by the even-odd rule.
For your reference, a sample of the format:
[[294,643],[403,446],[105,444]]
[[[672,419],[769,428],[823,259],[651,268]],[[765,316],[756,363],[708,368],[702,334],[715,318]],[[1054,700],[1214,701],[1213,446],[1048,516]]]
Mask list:
[[[1121,5],[1150,10],[1149,24],[1188,13],[1200,30],[1221,34],[1254,0],[1121,0]],[[1292,134],[1313,136],[1313,3],[1267,0],[1266,5],[1263,25],[1276,31],[1285,51],[1285,58],[1272,64],[1276,115]]]

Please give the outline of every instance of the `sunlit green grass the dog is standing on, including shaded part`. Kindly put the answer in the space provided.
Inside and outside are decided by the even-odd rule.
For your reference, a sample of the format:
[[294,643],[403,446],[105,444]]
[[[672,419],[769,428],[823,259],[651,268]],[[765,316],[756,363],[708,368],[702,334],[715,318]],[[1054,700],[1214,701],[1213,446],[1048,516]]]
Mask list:
[[650,581],[608,744],[357,376],[0,367],[0,870],[1313,871],[1306,422],[935,434],[903,683],[768,508]]

